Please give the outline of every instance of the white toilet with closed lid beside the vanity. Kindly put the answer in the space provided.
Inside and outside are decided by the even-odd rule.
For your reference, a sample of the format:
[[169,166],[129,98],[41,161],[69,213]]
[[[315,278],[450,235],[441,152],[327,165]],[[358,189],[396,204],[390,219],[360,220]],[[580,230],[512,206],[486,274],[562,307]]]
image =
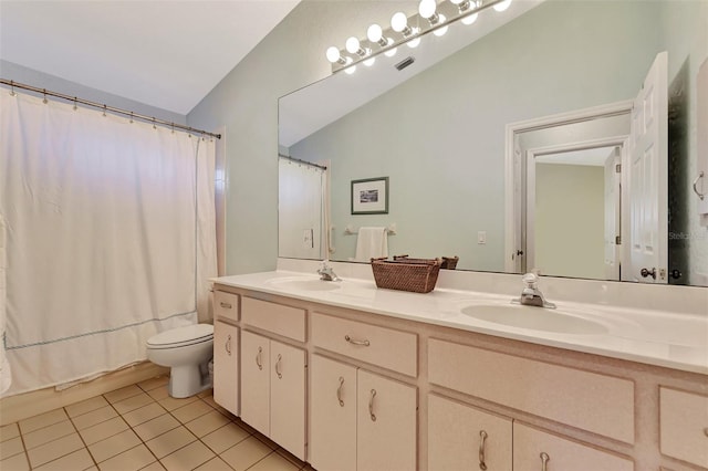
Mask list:
[[214,356],[214,325],[170,328],[147,339],[147,359],[168,366],[171,397],[194,396],[211,387],[208,365]]

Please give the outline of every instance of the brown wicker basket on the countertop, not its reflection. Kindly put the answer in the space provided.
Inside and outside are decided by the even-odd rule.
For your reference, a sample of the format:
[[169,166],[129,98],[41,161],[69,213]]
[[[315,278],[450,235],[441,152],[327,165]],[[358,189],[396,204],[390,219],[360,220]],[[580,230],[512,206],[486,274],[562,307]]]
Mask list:
[[394,260],[372,259],[372,271],[378,287],[429,293],[438,281],[440,263],[440,259],[407,257],[396,257]]

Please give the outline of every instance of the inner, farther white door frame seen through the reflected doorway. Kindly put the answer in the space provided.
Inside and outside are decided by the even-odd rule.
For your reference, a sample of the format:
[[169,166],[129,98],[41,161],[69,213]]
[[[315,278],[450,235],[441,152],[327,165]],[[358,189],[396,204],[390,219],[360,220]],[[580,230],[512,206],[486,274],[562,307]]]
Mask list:
[[[607,137],[601,137],[597,139],[583,140],[577,143],[554,144],[550,146],[533,147],[527,150],[525,153],[527,155],[524,157],[527,160],[527,193],[524,196],[525,203],[523,203],[522,201],[521,203],[523,205],[523,207],[516,207],[517,210],[520,210],[521,214],[514,216],[514,220],[523,219],[522,214],[525,213],[525,226],[522,226],[522,228],[519,228],[521,233],[520,247],[522,247],[524,251],[525,259],[518,259],[520,262],[525,260],[527,266],[525,268],[522,266],[525,271],[530,271],[530,269],[533,269],[535,264],[534,252],[532,249],[535,242],[534,231],[533,231],[534,224],[533,222],[531,223],[529,222],[534,220],[534,206],[531,205],[530,201],[531,201],[532,195],[535,195],[535,170],[533,170],[534,167],[531,164],[535,161],[537,157],[542,157],[545,155],[569,153],[569,151],[575,151],[575,150],[589,150],[589,149],[595,149],[598,147],[618,147],[620,164],[622,165],[622,168],[625,168],[624,165],[626,159],[628,138],[629,138],[629,135],[624,134],[618,136],[607,136]],[[529,178],[529,177],[533,177],[533,178]],[[624,188],[626,188],[626,185],[624,185],[624,181],[622,180],[623,178],[624,178],[624,174],[622,174],[622,177],[621,177],[620,195],[622,195],[621,200],[626,201],[625,196],[622,193],[622,191],[624,191]],[[618,210],[622,211],[622,208],[618,208]],[[617,213],[616,217],[617,219],[622,219],[621,212]],[[624,239],[624,236],[625,236],[624,228],[622,227],[622,224],[620,224],[618,228],[620,228],[620,233],[616,236],[620,236],[622,239]],[[620,261],[620,263],[622,263],[622,251],[620,251],[620,253],[617,253],[616,255],[617,255],[616,260]],[[612,281],[620,281],[620,279],[612,280]]]

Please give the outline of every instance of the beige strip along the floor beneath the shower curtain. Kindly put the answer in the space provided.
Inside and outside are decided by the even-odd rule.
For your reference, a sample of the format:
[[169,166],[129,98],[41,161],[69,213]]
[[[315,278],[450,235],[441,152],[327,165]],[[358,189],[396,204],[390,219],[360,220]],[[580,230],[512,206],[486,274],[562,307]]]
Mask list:
[[70,404],[80,402],[135,383],[169,374],[169,368],[142,362],[80,383],[63,390],[53,387],[19,394],[0,399],[0,426],[17,422]]

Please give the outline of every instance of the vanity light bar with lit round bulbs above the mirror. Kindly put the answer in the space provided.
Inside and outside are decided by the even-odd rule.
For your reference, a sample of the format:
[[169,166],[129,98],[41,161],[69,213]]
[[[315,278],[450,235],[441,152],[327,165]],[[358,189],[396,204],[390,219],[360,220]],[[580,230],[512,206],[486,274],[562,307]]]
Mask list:
[[[392,18],[392,25],[383,29],[377,24],[372,24],[367,31],[367,36],[358,41],[357,48],[354,49],[354,41],[356,38],[350,38],[347,43],[351,48],[337,49],[336,46],[330,46],[327,49],[326,57],[332,63],[332,73],[340,71],[346,71],[353,73],[356,69],[356,64],[364,62],[371,65],[374,62],[374,57],[378,54],[393,55],[396,49],[403,44],[408,44],[410,48],[415,48],[420,42],[420,39],[428,34],[435,33],[436,35],[442,35],[447,31],[447,28],[465,18],[477,18],[477,14],[493,7],[497,11],[504,11],[509,8],[512,0],[445,0],[441,3],[437,3],[436,0],[421,0],[420,4],[423,12],[428,14],[429,9],[435,3],[433,14],[427,18],[423,18],[419,12],[406,17],[405,13],[397,12]],[[449,6],[448,6],[449,4]],[[447,8],[449,18],[447,14],[440,14],[438,9]],[[405,22],[403,21],[405,18]],[[435,20],[433,20],[435,19]],[[472,21],[468,22],[471,24]],[[336,54],[339,52],[339,54]]]

